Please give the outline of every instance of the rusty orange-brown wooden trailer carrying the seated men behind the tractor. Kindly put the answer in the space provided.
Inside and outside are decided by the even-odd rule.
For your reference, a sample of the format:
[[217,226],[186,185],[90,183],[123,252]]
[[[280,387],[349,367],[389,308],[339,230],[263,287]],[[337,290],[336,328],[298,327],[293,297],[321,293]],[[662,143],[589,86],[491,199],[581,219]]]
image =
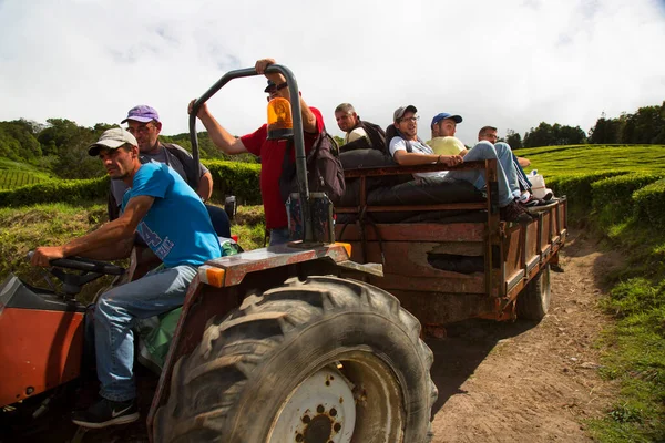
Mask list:
[[[368,281],[396,296],[423,324],[472,317],[540,320],[550,303],[550,262],[556,260],[567,234],[566,198],[531,208],[534,220],[528,224],[502,222],[494,203],[497,161],[469,162],[459,168],[483,169],[485,194],[471,202],[381,205],[368,192],[372,179],[448,167],[345,171],[349,187],[356,182],[358,199],[336,207],[337,239],[351,244],[352,260],[382,264],[383,277],[369,276]],[[416,223],[387,217],[396,213],[422,216]],[[433,215],[430,219],[428,213]],[[446,257],[448,267],[437,266],[437,257]]]

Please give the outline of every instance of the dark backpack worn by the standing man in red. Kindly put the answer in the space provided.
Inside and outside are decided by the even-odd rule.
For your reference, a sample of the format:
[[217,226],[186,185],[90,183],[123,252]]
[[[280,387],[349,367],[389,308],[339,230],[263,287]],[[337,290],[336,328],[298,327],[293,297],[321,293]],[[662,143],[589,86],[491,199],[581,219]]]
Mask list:
[[[279,194],[286,203],[293,193],[298,192],[298,177],[296,164],[291,162],[294,150],[293,140],[287,142],[284,161],[282,163],[282,175],[279,176]],[[346,185],[344,182],[344,168],[339,161],[339,146],[335,138],[324,127],[314,141],[311,150],[306,157],[307,184],[310,193],[326,193],[332,205],[339,204]]]

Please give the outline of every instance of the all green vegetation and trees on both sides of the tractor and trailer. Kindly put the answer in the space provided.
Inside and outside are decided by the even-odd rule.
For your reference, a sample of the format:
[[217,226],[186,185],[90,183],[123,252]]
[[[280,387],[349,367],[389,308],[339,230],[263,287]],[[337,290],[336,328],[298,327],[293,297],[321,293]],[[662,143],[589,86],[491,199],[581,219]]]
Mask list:
[[[63,119],[0,122],[0,278],[14,271],[38,281],[41,272],[24,259],[30,249],[62,244],[106,220],[108,178],[100,178],[100,163],[86,146],[109,127]],[[191,148],[188,134],[164,141]],[[627,257],[626,268],[611,276],[614,289],[602,305],[616,327],[603,339],[607,353],[600,371],[621,381],[622,391],[612,410],[591,422],[593,436],[665,441],[665,102],[616,119],[602,115],[589,136],[579,126],[541,122],[523,137],[509,130],[507,141],[556,195],[569,196],[573,224]],[[232,233],[245,249],[263,246],[263,209],[247,206],[260,202],[256,159],[227,162],[206,133],[198,142],[215,179],[213,198],[235,194],[245,204]]]

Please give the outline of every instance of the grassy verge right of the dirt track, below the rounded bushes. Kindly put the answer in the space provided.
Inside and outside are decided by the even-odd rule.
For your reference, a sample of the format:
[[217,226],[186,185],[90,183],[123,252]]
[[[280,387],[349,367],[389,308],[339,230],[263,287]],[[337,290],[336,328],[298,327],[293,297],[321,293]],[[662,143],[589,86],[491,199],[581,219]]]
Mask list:
[[601,442],[665,442],[665,234],[634,218],[604,234],[627,257],[601,303],[616,322],[601,340],[600,372],[620,381],[621,392],[589,430]]

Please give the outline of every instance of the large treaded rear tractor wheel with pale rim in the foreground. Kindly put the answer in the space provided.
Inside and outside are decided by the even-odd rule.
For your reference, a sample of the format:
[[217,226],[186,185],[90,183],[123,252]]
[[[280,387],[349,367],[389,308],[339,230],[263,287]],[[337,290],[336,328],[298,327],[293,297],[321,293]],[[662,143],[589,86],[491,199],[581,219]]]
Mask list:
[[311,277],[252,295],[174,368],[155,442],[431,440],[420,323],[390,293]]

